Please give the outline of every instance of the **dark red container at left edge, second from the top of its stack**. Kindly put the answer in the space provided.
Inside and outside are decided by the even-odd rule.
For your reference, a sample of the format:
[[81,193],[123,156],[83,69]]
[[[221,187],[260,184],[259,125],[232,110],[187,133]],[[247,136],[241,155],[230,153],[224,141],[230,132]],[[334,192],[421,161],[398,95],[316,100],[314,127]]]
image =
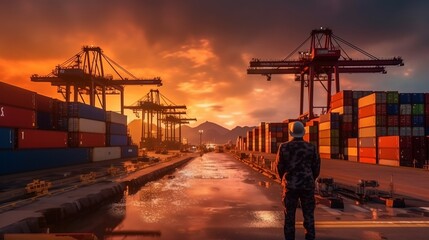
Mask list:
[[35,128],[36,111],[0,105],[0,127]]

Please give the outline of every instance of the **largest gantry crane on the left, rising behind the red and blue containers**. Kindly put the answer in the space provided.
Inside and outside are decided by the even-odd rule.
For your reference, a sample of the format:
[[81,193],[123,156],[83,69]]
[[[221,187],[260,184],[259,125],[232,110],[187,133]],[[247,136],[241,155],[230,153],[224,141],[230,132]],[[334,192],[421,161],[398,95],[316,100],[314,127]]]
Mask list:
[[[110,73],[107,73],[106,66],[110,67]],[[112,74],[115,74],[118,79],[115,79]],[[138,79],[107,57],[100,47],[93,46],[82,47],[82,51],[58,65],[46,76],[32,75],[31,81],[50,82],[51,85],[57,86],[58,92],[63,94],[66,102],[70,102],[71,87],[73,87],[73,101],[78,102],[79,97],[84,101],[82,94],[88,94],[89,104],[95,106],[95,97],[97,97],[103,109],[106,109],[107,94],[120,94],[122,114],[124,113],[125,85],[162,85],[159,77]]]

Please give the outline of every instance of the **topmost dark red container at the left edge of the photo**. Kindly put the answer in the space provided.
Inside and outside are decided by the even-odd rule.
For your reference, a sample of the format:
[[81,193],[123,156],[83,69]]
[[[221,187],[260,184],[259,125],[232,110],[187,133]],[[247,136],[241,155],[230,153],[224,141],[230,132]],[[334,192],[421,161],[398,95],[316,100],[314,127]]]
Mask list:
[[35,92],[0,82],[0,104],[34,110],[35,98]]

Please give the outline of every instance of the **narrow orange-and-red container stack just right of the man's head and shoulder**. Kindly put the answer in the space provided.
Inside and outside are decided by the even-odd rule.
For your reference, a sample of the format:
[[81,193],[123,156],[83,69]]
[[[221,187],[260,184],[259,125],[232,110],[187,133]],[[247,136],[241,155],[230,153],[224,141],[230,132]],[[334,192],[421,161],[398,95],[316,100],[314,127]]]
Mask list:
[[339,157],[339,127],[338,113],[327,113],[319,118],[319,153],[320,158],[331,159]]

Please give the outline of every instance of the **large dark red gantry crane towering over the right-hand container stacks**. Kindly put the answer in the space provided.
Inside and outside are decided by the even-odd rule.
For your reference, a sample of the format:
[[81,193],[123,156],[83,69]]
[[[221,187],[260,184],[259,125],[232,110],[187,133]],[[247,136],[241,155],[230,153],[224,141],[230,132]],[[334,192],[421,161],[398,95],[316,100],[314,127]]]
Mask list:
[[[289,60],[299,48],[311,39],[310,50],[299,53],[299,60]],[[364,54],[366,60],[352,59],[338,42]],[[403,66],[402,58],[378,59],[364,50],[352,45],[334,35],[331,29],[321,28],[311,32],[311,35],[291,54],[283,60],[262,61],[252,59],[248,74],[261,74],[271,80],[272,74],[295,74],[295,80],[301,82],[300,115],[304,111],[304,87],[308,88],[308,117],[314,117],[313,108],[329,110],[331,102],[332,81],[335,81],[335,91],[340,91],[340,73],[386,73],[387,65]],[[335,76],[333,78],[333,76]],[[326,106],[315,107],[313,104],[314,82],[319,82],[327,92]],[[327,82],[327,86],[323,82]]]

